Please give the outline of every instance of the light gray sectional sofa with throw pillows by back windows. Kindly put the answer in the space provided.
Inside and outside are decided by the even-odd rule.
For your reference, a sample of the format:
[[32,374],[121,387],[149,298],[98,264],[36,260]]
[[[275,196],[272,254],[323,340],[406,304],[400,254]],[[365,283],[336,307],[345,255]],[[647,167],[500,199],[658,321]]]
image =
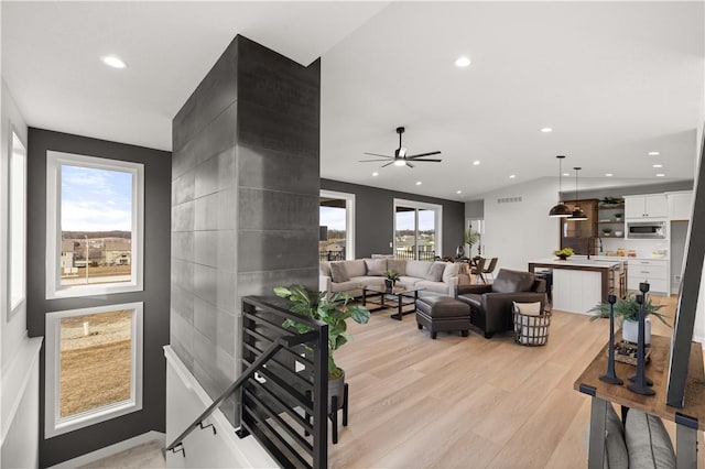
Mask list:
[[419,296],[456,295],[458,266],[453,262],[384,258],[322,262],[319,287],[328,295],[346,292],[352,296],[360,296],[366,285],[384,286],[387,270],[399,273],[398,283],[401,285],[422,286],[424,290],[419,292]]

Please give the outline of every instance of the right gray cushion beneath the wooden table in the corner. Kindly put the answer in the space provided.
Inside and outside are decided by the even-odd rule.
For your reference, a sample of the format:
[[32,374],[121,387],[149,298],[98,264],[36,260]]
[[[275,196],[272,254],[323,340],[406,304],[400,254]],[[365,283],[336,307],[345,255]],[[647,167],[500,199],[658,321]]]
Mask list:
[[625,439],[632,468],[675,468],[675,451],[661,418],[630,408]]

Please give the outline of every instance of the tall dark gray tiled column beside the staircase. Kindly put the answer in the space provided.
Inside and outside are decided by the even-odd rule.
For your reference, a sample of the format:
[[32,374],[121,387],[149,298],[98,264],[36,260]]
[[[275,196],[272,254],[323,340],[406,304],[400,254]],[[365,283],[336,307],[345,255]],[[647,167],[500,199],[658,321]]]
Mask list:
[[241,297],[317,286],[318,121],[319,63],[241,36],[174,118],[171,341],[214,397],[239,372]]

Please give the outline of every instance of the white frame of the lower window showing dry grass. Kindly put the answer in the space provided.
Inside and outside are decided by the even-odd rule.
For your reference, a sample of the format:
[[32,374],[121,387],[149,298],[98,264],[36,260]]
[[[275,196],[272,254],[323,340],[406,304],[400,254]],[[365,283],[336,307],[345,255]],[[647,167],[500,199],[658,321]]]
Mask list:
[[[44,435],[52,438],[68,432],[106,422],[142,410],[143,394],[143,303],[124,303],[117,305],[66,309],[47,313],[46,358],[45,358],[45,399],[44,399]],[[61,319],[73,316],[113,313],[121,309],[132,310],[132,330],[130,340],[131,385],[130,399],[91,411],[82,412],[68,417],[59,415],[61,410]]]

